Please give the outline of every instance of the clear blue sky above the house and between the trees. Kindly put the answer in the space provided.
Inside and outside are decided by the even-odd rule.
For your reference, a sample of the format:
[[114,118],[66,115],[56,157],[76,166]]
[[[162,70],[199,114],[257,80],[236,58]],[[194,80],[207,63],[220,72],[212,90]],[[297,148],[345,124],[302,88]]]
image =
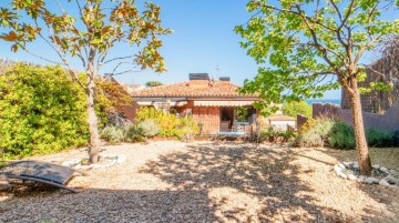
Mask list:
[[[2,1],[0,6],[9,0]],[[143,0],[136,1],[139,6],[143,2]],[[187,80],[188,73],[206,72],[215,78],[231,77],[232,82],[242,84],[245,79],[252,79],[256,74],[256,63],[239,47],[241,38],[233,31],[235,26],[245,23],[250,16],[246,12],[247,0],[155,0],[153,2],[162,7],[163,26],[174,30],[173,34],[162,38],[164,47],[161,52],[168,71],[157,74],[144,70],[115,77],[119,81],[140,84],[146,81],[173,83]],[[44,43],[34,43],[31,49],[49,58],[57,57]],[[131,50],[116,48],[112,54],[129,54],[129,51]],[[0,44],[0,57],[45,63],[23,52],[11,52],[10,44],[4,42]],[[80,68],[76,65],[76,69]],[[111,70],[111,67],[104,68],[103,72]],[[327,92],[325,98],[339,99],[340,90]]]

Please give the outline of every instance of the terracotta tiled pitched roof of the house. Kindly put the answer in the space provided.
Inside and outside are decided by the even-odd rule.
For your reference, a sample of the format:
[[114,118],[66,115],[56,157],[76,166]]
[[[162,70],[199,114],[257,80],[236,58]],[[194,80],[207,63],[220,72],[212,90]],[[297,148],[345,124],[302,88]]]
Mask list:
[[146,88],[131,91],[131,95],[140,97],[255,97],[249,94],[239,94],[239,85],[232,84],[228,81],[185,81],[173,84]]

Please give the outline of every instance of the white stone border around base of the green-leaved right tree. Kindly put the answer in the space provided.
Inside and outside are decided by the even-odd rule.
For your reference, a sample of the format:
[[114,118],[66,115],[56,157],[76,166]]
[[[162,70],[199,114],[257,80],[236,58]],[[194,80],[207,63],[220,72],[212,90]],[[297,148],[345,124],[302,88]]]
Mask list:
[[392,189],[399,189],[399,179],[396,179],[390,170],[385,166],[372,165],[374,170],[378,170],[383,173],[386,176],[366,176],[366,175],[356,175],[356,174],[347,174],[344,173],[345,170],[354,171],[354,169],[359,169],[359,164],[357,161],[354,162],[341,162],[334,165],[334,171],[336,174],[342,179],[348,179],[350,181],[357,181],[359,183],[368,183],[368,184],[379,184],[382,186],[388,186]]

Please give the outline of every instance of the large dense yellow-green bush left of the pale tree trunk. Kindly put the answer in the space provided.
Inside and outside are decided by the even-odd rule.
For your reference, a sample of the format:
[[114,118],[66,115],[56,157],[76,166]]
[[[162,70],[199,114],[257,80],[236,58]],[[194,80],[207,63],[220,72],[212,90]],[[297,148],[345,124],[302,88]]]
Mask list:
[[88,142],[85,94],[60,67],[17,64],[0,74],[0,158]]

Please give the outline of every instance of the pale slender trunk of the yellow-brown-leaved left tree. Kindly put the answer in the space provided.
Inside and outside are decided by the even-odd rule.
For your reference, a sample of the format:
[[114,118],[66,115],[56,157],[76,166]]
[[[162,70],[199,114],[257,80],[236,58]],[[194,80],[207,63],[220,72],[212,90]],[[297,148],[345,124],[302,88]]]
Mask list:
[[98,116],[94,109],[94,79],[88,74],[88,88],[85,92],[88,99],[88,123],[90,132],[89,163],[96,163],[99,161],[100,153],[100,134],[98,126]]

